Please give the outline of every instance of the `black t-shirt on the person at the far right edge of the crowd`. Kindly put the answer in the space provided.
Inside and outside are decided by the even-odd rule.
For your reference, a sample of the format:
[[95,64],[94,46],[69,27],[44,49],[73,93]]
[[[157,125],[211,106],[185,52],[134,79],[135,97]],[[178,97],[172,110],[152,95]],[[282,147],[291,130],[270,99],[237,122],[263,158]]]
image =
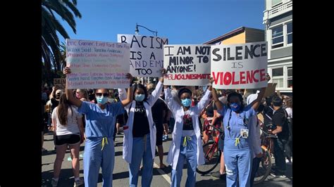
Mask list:
[[282,131],[277,134],[278,138],[286,139],[289,138],[289,127],[287,125],[287,115],[285,115],[285,110],[280,108],[273,114],[273,125],[282,127]]

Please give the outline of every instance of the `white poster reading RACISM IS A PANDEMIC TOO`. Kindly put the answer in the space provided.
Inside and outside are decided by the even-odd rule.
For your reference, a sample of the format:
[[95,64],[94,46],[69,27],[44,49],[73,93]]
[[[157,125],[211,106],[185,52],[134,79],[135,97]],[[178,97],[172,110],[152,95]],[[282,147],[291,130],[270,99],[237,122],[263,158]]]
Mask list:
[[117,41],[130,44],[130,73],[133,77],[161,77],[162,47],[168,44],[168,39],[117,34]]

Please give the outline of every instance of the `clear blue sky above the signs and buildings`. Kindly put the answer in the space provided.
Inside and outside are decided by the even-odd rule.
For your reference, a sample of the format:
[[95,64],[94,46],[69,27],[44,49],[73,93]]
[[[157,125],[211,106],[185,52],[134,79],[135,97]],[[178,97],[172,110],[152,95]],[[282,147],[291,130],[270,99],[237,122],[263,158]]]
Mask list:
[[[203,44],[237,27],[264,29],[265,0],[78,0],[77,34],[61,21],[71,39],[117,42],[135,34],[136,22],[169,44]],[[141,35],[153,36],[139,27]],[[59,36],[61,41],[65,41]]]

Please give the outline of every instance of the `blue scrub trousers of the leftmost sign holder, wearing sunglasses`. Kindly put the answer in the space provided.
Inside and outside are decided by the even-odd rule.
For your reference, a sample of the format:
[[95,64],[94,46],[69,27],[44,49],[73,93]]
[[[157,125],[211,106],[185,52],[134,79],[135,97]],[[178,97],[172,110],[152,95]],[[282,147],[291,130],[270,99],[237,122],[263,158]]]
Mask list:
[[108,144],[104,145],[103,150],[101,150],[101,148],[101,137],[86,139],[83,158],[85,186],[97,186],[100,167],[102,167],[102,186],[113,186],[113,165],[115,162],[113,138],[108,138]]

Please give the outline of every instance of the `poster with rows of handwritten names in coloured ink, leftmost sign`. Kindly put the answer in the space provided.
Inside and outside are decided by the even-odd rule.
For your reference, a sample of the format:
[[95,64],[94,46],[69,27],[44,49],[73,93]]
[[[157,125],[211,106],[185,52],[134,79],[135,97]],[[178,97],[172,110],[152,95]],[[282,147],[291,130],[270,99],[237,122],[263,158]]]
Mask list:
[[66,39],[68,89],[128,88],[130,45]]

